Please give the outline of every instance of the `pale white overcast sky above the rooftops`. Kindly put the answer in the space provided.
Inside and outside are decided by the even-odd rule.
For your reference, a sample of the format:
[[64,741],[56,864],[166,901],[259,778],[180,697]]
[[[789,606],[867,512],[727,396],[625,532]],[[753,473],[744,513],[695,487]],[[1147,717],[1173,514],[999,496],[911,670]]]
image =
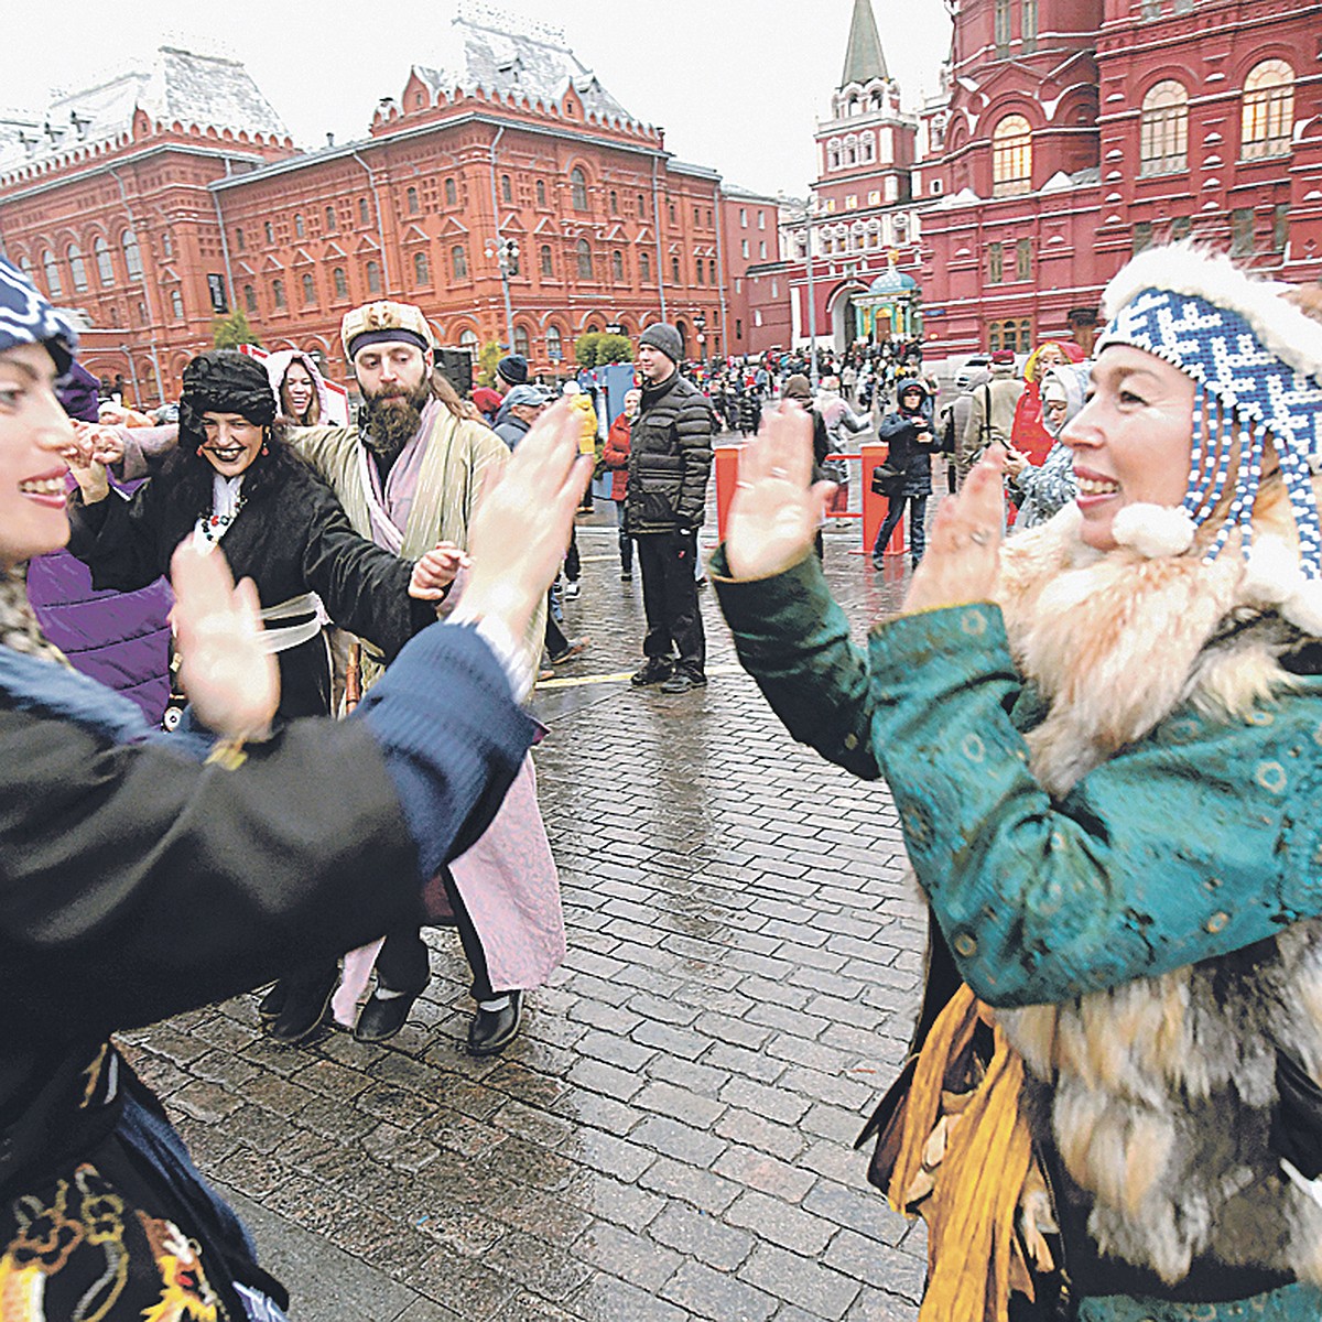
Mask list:
[[[874,0],[882,46],[914,110],[949,48],[941,0]],[[0,104],[42,110],[52,87],[99,81],[164,42],[241,59],[300,145],[364,137],[412,63],[435,63],[455,0],[65,0],[7,5]],[[805,196],[813,127],[839,82],[854,0],[504,0],[562,26],[579,59],[683,160],[731,184]],[[196,17],[194,17],[196,16]],[[902,21],[896,20],[902,16]]]

